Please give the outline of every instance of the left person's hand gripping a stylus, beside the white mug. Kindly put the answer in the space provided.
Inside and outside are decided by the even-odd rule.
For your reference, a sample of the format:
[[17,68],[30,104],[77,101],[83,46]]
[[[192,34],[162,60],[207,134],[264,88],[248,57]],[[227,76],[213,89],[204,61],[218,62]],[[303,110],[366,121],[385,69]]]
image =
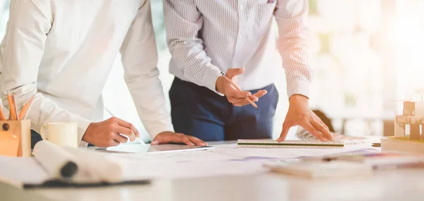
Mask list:
[[106,121],[90,123],[82,140],[97,147],[114,147],[128,141],[119,133],[128,136],[131,142],[139,138],[139,130],[131,123],[112,117]]

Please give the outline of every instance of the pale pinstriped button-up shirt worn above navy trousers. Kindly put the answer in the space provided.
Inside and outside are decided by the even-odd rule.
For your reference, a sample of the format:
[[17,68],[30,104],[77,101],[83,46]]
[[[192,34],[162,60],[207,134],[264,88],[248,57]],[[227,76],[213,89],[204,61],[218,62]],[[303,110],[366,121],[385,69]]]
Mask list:
[[[216,91],[220,71],[245,68],[240,87],[257,90],[283,66],[288,97],[309,96],[307,0],[165,0],[164,10],[170,73],[178,78]],[[277,49],[282,64],[272,62]]]

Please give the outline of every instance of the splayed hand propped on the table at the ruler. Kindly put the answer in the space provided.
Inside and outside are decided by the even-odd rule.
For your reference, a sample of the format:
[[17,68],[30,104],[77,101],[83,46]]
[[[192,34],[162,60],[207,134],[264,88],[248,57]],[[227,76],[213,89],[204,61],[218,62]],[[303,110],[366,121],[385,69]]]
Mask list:
[[288,130],[292,126],[301,126],[308,132],[312,133],[319,140],[335,141],[331,135],[329,128],[324,122],[309,108],[309,99],[302,95],[293,95],[290,97],[290,106],[288,107],[287,115],[283,123],[283,130],[281,131],[278,142],[285,140]]

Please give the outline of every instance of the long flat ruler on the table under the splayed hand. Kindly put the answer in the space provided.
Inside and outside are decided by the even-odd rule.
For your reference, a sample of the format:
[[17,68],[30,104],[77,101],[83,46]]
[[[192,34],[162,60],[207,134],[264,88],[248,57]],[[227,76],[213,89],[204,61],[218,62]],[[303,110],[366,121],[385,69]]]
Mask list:
[[277,142],[276,140],[237,140],[238,147],[295,147],[295,148],[343,148],[343,141],[320,142],[305,140],[285,140]]

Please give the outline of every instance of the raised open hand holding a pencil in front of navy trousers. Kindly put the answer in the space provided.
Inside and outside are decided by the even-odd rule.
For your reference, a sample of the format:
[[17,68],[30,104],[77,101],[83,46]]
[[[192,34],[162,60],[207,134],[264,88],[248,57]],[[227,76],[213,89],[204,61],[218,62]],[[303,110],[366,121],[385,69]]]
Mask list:
[[227,97],[228,102],[235,106],[245,106],[252,104],[255,108],[258,106],[254,102],[258,102],[260,97],[266,95],[266,90],[259,90],[256,94],[252,95],[250,92],[243,92],[237,86],[237,75],[245,72],[245,68],[230,68],[227,73],[221,73],[221,77],[216,81],[216,88],[218,92]]

